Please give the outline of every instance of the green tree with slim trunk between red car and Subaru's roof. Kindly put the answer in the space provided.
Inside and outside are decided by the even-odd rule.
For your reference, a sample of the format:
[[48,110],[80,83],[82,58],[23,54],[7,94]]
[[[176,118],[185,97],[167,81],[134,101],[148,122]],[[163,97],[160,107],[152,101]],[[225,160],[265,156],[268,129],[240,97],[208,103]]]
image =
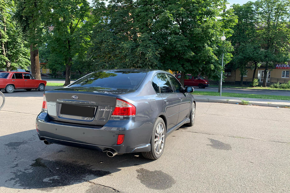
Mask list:
[[[83,52],[90,42],[90,30],[85,26],[90,23],[90,7],[87,0],[43,0],[44,14],[48,26],[48,47],[51,55],[48,66],[65,65],[66,80],[71,82],[73,58]],[[88,25],[90,26],[90,25]],[[59,69],[57,67],[56,69]]]

